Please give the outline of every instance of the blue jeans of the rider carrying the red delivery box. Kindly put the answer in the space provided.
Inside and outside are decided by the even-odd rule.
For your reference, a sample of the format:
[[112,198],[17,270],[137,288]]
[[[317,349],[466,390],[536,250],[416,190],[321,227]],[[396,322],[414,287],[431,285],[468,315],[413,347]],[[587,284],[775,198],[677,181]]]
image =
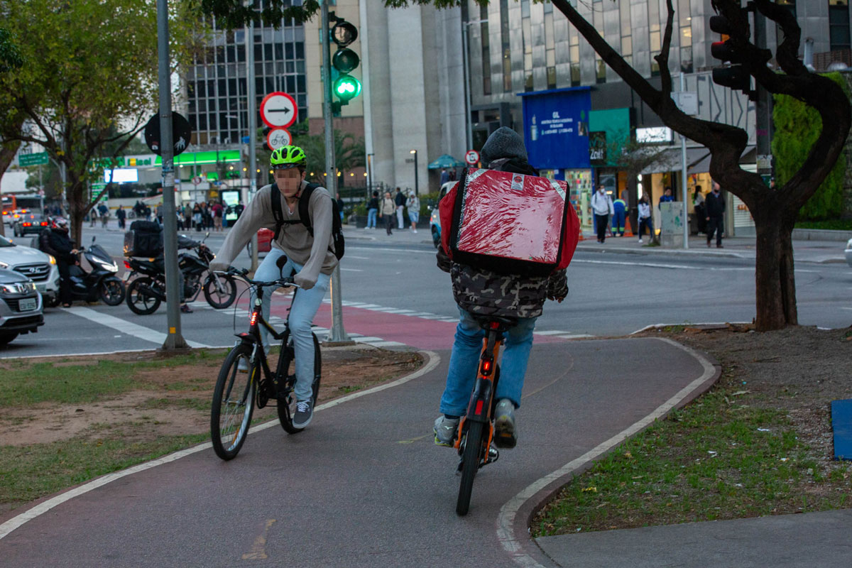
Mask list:
[[[446,387],[440,397],[440,411],[450,416],[463,416],[468,409],[470,392],[479,369],[482,339],[485,337],[485,330],[469,312],[459,307],[458,313],[461,319],[456,327],[456,340],[452,344]],[[497,398],[511,400],[515,408],[521,406],[521,389],[524,387],[527,361],[533,347],[536,319],[519,318],[518,324],[505,334]]]

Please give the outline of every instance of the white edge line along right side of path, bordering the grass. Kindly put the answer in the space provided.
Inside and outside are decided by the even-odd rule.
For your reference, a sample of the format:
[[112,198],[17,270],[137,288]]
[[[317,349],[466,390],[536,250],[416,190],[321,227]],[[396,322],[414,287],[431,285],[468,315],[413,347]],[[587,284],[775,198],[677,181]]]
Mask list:
[[[639,422],[635,422],[630,425],[630,427],[625,428],[621,432],[615,434],[612,438],[607,439],[607,441],[602,442],[602,444],[597,445],[595,448],[587,451],[582,456],[579,456],[577,459],[572,460],[571,462],[567,462],[564,466],[557,469],[553,473],[545,475],[543,478],[534,481],[532,484],[527,485],[522,491],[520,491],[517,495],[509,499],[509,502],[506,502],[503,507],[500,508],[500,514],[498,515],[497,520],[497,538],[500,541],[500,544],[503,546],[504,550],[509,553],[509,556],[515,563],[518,565],[524,566],[524,568],[544,568],[544,566],[538,564],[532,556],[527,554],[523,548],[523,542],[521,541],[520,535],[515,535],[515,516],[518,511],[521,509],[523,504],[527,502],[530,498],[532,498],[538,491],[541,491],[550,483],[553,483],[557,479],[561,479],[569,473],[572,473],[577,468],[580,468],[586,462],[590,462],[592,460],[597,459],[602,456],[602,454],[607,451],[613,449],[616,445],[621,444],[625,441],[625,439],[630,438],[633,434],[642,430],[642,428],[647,427],[653,421],[665,416],[671,409],[673,409],[677,404],[680,404],[683,399],[686,399],[690,393],[700,387],[707,379],[709,379],[716,372],[716,369],[713,367],[710,361],[705,359],[700,353],[696,352],[694,349],[683,346],[676,341],[671,341],[671,339],[667,339],[665,337],[652,337],[651,339],[657,339],[659,341],[665,341],[670,345],[678,347],[683,351],[686,351],[690,355],[692,355],[701,366],[704,368],[704,372],[701,373],[699,378],[695,379],[693,382],[690,382],[686,387],[683,387],[679,390],[671,399],[665,401],[665,403],[660,404],[656,410],[654,410],[648,416],[645,416]],[[527,534],[526,542],[531,542],[532,538]]]

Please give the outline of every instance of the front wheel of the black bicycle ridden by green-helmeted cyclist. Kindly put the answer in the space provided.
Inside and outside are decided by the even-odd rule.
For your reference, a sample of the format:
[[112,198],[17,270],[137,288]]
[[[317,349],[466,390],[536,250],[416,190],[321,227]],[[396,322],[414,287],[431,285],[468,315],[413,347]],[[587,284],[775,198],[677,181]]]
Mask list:
[[[234,347],[227,354],[216,388],[213,390],[213,405],[210,410],[210,438],[216,456],[230,460],[237,456],[249,433],[251,413],[255,408],[257,365],[249,362],[251,347],[245,343]],[[240,371],[244,361],[250,372]]]

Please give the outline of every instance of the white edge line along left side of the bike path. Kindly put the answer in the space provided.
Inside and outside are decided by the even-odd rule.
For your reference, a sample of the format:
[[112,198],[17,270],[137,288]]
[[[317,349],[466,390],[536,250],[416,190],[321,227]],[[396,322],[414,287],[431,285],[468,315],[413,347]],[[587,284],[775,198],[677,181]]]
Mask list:
[[[329,409],[333,406],[337,406],[338,404],[348,402],[349,400],[360,399],[360,397],[366,396],[367,394],[378,393],[379,391],[383,391],[391,387],[398,387],[402,384],[405,384],[406,382],[416,379],[419,376],[423,376],[426,373],[429,373],[429,371],[435,369],[435,367],[437,367],[440,363],[440,357],[438,356],[438,353],[435,353],[433,351],[418,351],[417,353],[423,354],[429,360],[426,362],[426,364],[423,365],[423,367],[414,371],[411,375],[403,376],[402,378],[397,379],[394,382],[389,382],[384,385],[368,388],[364,391],[358,391],[356,393],[348,394],[344,397],[341,397],[340,399],[330,400],[325,404],[320,404],[319,406],[317,406],[314,411],[319,412],[320,410]],[[251,427],[251,429],[249,430],[249,435],[253,433],[258,433],[262,430],[266,430],[267,428],[276,427],[278,425],[279,421],[277,419],[265,422],[263,424],[258,424],[257,426]],[[20,527],[20,525],[24,525],[24,523],[26,523],[27,521],[36,519],[39,515],[47,513],[50,509],[55,508],[56,506],[61,505],[66,501],[70,501],[76,496],[81,496],[85,493],[88,493],[89,491],[101,487],[102,485],[107,485],[107,483],[116,481],[117,479],[121,479],[133,473],[139,473],[145,471],[146,469],[156,468],[157,466],[163,465],[164,463],[174,462],[176,460],[181,459],[181,457],[191,456],[199,451],[207,450],[212,447],[213,445],[210,442],[207,442],[205,444],[193,446],[192,448],[187,448],[186,450],[176,451],[174,454],[160,457],[156,460],[153,460],[152,462],[140,463],[139,465],[136,465],[129,469],[124,469],[120,472],[107,473],[107,475],[104,475],[101,478],[94,479],[92,481],[89,481],[89,483],[87,484],[80,485],[79,487],[75,487],[72,490],[66,491],[65,493],[55,496],[52,499],[48,499],[45,502],[41,502],[35,507],[23,513],[20,513],[19,515],[14,516],[12,519],[7,520],[5,523],[3,523],[3,525],[0,525],[0,539],[3,539],[3,537],[8,536],[10,532]]]

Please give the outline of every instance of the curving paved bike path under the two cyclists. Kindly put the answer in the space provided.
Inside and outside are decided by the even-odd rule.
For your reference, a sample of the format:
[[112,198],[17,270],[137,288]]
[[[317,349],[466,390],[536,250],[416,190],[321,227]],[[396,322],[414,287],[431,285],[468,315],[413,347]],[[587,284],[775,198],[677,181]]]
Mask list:
[[519,445],[481,470],[459,518],[458,458],[431,436],[440,357],[411,382],[320,410],[296,436],[250,434],[231,462],[203,450],[76,496],[0,539],[3,566],[509,566],[513,547],[553,565],[524,530],[528,505],[509,527],[517,542],[498,531],[504,505],[707,376],[654,339],[533,347]]

